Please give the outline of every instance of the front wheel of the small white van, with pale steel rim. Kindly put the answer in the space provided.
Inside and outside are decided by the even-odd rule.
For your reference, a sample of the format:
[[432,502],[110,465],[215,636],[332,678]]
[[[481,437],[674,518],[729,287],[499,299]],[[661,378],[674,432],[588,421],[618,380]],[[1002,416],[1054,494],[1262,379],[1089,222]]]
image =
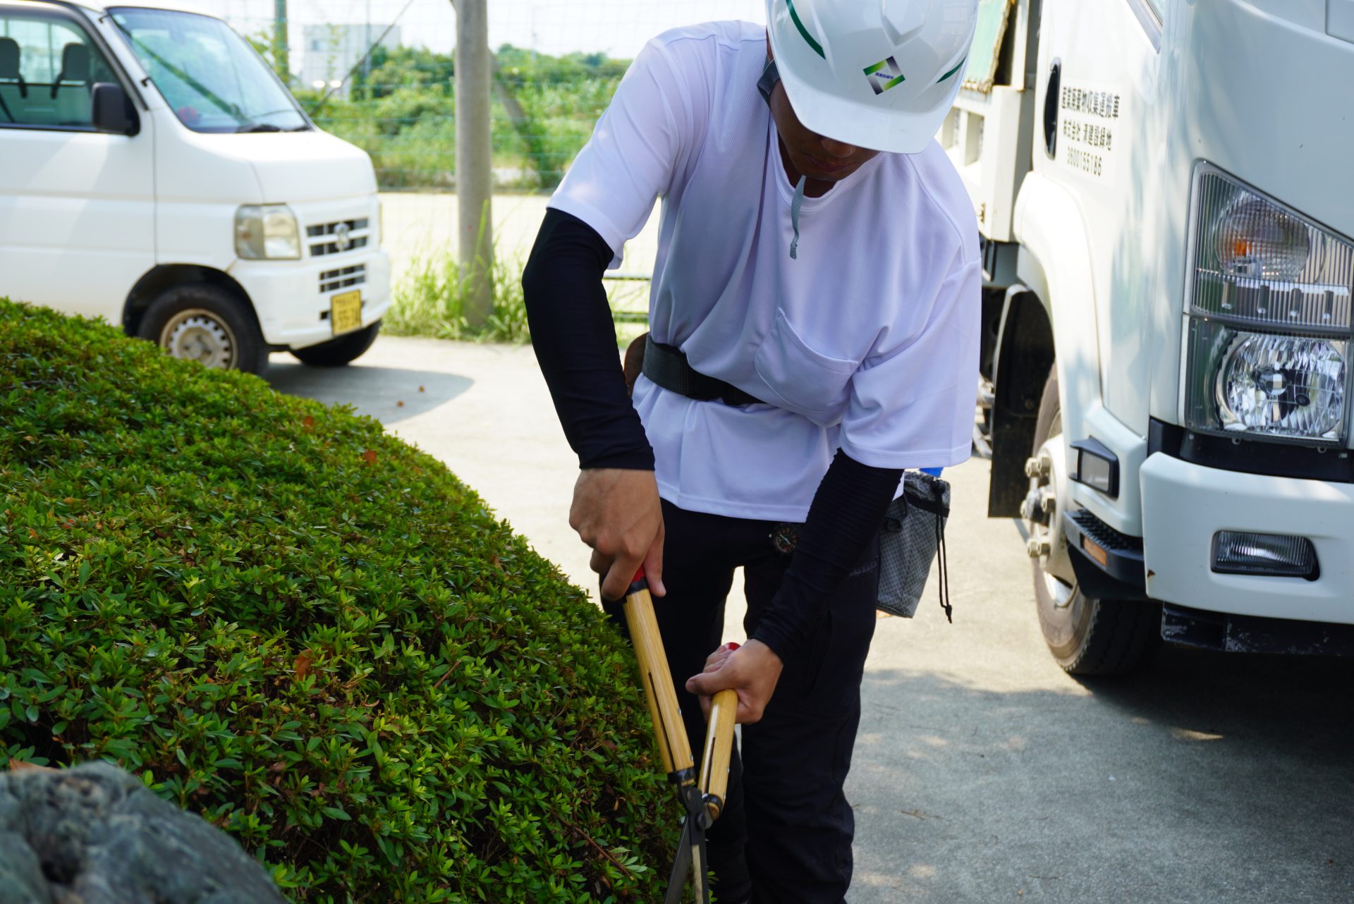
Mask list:
[[173,357],[206,367],[259,374],[268,364],[268,349],[248,303],[209,283],[164,292],[146,309],[137,336]]

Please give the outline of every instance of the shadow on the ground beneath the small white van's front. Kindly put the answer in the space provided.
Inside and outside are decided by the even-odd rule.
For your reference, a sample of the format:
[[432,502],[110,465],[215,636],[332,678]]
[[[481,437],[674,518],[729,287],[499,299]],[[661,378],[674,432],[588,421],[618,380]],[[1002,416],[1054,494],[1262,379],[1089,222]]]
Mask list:
[[279,392],[325,405],[352,405],[357,414],[387,425],[431,411],[474,386],[474,380],[456,374],[362,364],[306,367],[290,356],[274,356],[263,379]]

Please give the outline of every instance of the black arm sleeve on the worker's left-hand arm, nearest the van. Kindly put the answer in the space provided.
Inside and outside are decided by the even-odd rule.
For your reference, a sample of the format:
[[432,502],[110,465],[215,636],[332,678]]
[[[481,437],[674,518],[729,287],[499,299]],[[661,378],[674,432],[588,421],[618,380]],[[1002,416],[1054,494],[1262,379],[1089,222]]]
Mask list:
[[601,277],[611,246],[548,208],[521,273],[531,344],[581,468],[654,470],[654,451],[630,403],[616,325]]

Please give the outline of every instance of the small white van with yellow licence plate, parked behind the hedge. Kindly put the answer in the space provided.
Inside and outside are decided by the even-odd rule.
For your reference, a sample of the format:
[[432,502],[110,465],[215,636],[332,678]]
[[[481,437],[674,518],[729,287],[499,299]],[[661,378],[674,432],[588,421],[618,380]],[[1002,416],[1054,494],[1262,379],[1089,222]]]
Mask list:
[[371,158],[219,19],[0,0],[0,296],[211,367],[347,364],[390,306],[379,223]]

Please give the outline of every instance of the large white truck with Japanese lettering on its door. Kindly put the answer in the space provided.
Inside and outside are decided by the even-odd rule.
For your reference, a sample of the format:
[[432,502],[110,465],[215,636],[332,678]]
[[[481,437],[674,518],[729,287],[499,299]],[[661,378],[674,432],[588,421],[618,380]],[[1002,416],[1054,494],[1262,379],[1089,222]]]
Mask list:
[[988,514],[1076,674],[1354,651],[1354,0],[982,0]]

